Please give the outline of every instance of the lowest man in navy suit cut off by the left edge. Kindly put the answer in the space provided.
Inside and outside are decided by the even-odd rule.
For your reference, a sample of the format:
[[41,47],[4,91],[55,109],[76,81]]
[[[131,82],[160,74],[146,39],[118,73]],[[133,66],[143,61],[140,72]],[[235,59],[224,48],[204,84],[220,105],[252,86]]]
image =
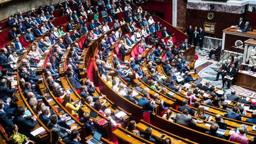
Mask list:
[[4,101],[0,99],[0,123],[5,128],[11,128],[13,125],[12,116],[4,110],[5,104]]

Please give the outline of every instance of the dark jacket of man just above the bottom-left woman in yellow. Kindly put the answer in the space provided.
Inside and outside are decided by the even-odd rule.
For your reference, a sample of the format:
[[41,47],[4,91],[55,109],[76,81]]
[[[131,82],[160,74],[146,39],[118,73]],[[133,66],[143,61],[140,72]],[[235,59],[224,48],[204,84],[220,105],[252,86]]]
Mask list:
[[14,123],[19,127],[19,132],[25,135],[30,134],[30,130],[34,129],[37,122],[32,121],[31,117],[15,116]]

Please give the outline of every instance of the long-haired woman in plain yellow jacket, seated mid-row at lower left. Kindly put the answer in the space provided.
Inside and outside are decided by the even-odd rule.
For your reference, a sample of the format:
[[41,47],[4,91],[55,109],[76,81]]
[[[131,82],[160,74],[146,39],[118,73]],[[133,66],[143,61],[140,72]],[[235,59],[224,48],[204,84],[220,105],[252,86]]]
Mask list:
[[71,102],[71,95],[66,94],[63,100],[62,105],[66,108],[66,110],[71,113],[73,116],[78,116],[76,111],[81,107],[81,101],[73,101]]

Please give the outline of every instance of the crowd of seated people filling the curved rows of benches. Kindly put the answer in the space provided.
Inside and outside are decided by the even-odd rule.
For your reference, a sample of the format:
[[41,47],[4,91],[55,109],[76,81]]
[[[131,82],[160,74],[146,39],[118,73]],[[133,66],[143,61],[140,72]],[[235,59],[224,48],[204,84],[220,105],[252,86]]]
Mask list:
[[[40,15],[36,15],[33,11],[30,11],[24,18],[21,12],[15,16],[16,18],[10,17],[8,24],[13,28],[9,33],[9,39],[15,39],[15,41],[13,42],[14,44],[7,44],[5,48],[1,49],[0,65],[2,66],[2,75],[0,79],[0,117],[1,124],[3,124],[4,128],[12,133],[12,139],[15,140],[17,139],[16,137],[22,137],[19,142],[31,142],[30,139],[27,138],[31,137],[30,133],[28,132],[34,128],[35,124],[37,123],[36,119],[40,119],[49,129],[57,129],[59,136],[64,142],[74,143],[81,140],[79,133],[76,130],[72,129],[72,127],[66,126],[66,124],[63,123],[65,116],[57,116],[55,113],[52,113],[53,110],[51,108],[46,106],[47,104],[42,101],[45,95],[41,95],[39,89],[36,87],[37,82],[42,80],[41,78],[36,77],[38,63],[40,62],[43,53],[47,52],[47,50],[52,50],[53,52],[49,57],[50,62],[46,64],[45,72],[46,81],[50,90],[53,92],[55,97],[57,97],[59,103],[62,104],[69,113],[77,117],[82,123],[85,123],[88,133],[92,133],[94,130],[97,130],[89,117],[89,113],[85,112],[82,114],[82,116],[78,116],[79,114],[77,111],[81,108],[81,101],[72,101],[71,95],[68,94],[68,91],[65,91],[62,88],[62,84],[60,83],[58,65],[61,63],[61,57],[66,54],[65,50],[68,46],[71,46],[71,49],[67,58],[67,74],[72,87],[79,89],[81,97],[83,97],[89,105],[110,119],[111,127],[122,125],[119,123],[120,121],[112,119],[110,109],[104,107],[105,101],[100,101],[100,99],[103,99],[105,95],[98,95],[98,97],[93,95],[95,92],[93,82],[89,80],[81,81],[79,72],[86,71],[86,69],[78,68],[78,64],[81,64],[81,62],[79,62],[79,56],[81,56],[82,51],[80,50],[78,43],[76,43],[76,40],[78,40],[79,37],[85,33],[88,33],[89,30],[91,31],[88,33],[87,40],[85,40],[87,45],[90,43],[90,41],[95,40],[100,36],[104,36],[104,39],[101,40],[101,46],[103,48],[101,48],[98,55],[95,56],[100,75],[103,77],[103,79],[105,79],[104,81],[107,82],[109,87],[119,92],[120,95],[127,98],[127,100],[131,101],[132,103],[143,107],[144,113],[147,111],[149,113],[155,113],[155,102],[159,102],[162,110],[167,109],[167,113],[164,115],[164,118],[170,121],[174,119],[174,116],[171,116],[172,111],[167,107],[167,105],[164,104],[164,101],[159,99],[157,94],[154,95],[153,98],[150,98],[149,89],[142,89],[140,87],[141,83],[137,83],[136,89],[137,91],[142,92],[143,97],[137,100],[135,97],[133,97],[132,89],[126,87],[125,84],[122,84],[119,78],[113,78],[113,76],[110,76],[110,71],[116,71],[121,78],[128,82],[129,85],[132,85],[132,79],[129,76],[129,66],[124,66],[124,64],[128,64],[127,62],[124,62],[123,59],[119,59],[116,55],[114,55],[114,68],[112,68],[111,64],[107,61],[108,57],[110,56],[110,53],[108,53],[110,51],[110,46],[113,45],[115,41],[121,41],[121,49],[119,53],[121,53],[124,57],[126,56],[127,49],[131,48],[137,41],[141,40],[139,43],[140,55],[133,60],[131,59],[130,65],[132,66],[133,63],[132,69],[137,73],[136,78],[143,79],[143,81],[145,81],[146,84],[149,84],[152,89],[165,93],[165,88],[156,88],[152,79],[148,79],[147,75],[145,75],[145,73],[142,71],[142,63],[145,61],[145,59],[142,59],[141,55],[146,52],[147,48],[152,47],[152,44],[157,44],[156,50],[151,50],[146,59],[148,60],[148,68],[151,69],[151,73],[153,74],[155,81],[162,83],[165,82],[165,85],[168,85],[169,88],[174,89],[177,92],[180,91],[180,87],[182,87],[182,84],[184,83],[194,82],[194,84],[196,84],[196,81],[194,81],[194,79],[189,75],[189,68],[182,53],[182,50],[186,50],[188,48],[188,40],[185,40],[178,47],[174,46],[175,44],[172,42],[172,37],[170,37],[167,43],[165,43],[164,39],[159,39],[157,34],[155,34],[156,31],[162,30],[161,24],[159,22],[155,23],[152,17],[148,18],[146,12],[143,12],[140,7],[138,9],[132,9],[132,7],[130,7],[126,1],[113,1],[107,2],[106,4],[103,1],[98,1],[97,7],[92,9],[88,1],[85,3],[86,4],[82,4],[81,1],[65,1],[63,4],[59,3],[57,6],[53,6],[51,3],[48,7],[39,8],[38,12]],[[76,11],[71,10],[70,7],[72,5],[76,5]],[[119,24],[119,20],[116,20],[114,14],[123,11],[121,5],[126,6],[124,7],[124,11],[126,11],[126,18],[121,20]],[[67,24],[66,30],[63,29],[63,25],[57,28],[56,25],[52,24],[51,20],[55,18],[53,15],[53,11],[55,9],[63,9],[62,14],[69,15],[69,23]],[[85,11],[85,9],[87,11]],[[107,13],[108,9],[111,9],[111,14]],[[99,21],[100,13],[102,16],[105,15],[103,24],[101,24]],[[89,14],[94,14],[94,20],[91,20],[88,28],[87,21],[89,20]],[[111,17],[111,15],[113,15],[113,17]],[[112,21],[116,22],[114,24],[114,28],[118,29],[107,35],[105,32],[111,30],[108,23],[111,23]],[[139,21],[137,26],[136,21]],[[42,24],[42,26],[40,24]],[[127,24],[125,29],[130,35],[122,37],[123,34],[120,25],[124,24]],[[15,25],[17,25],[17,28],[15,28]],[[79,25],[78,30],[75,30],[76,25]],[[31,30],[31,28],[34,29]],[[65,31],[67,33],[65,33]],[[72,31],[72,34],[68,33],[69,31]],[[20,76],[24,81],[23,92],[25,98],[27,98],[27,101],[37,116],[25,117],[24,108],[16,107],[14,101],[12,101],[14,98],[11,97],[15,89],[11,86],[9,81],[15,79],[14,75],[17,73],[15,73],[13,69],[17,68],[17,65],[15,66],[17,63],[17,58],[25,52],[26,48],[22,46],[18,39],[21,34],[25,34],[24,37],[26,41],[33,43],[30,48],[30,52],[28,52],[27,56],[21,60],[22,64],[19,71]],[[151,41],[151,43],[148,40],[145,40],[149,34],[151,34],[149,37],[149,41]],[[162,37],[171,35],[166,27],[163,28],[161,34]],[[36,37],[40,36],[44,36],[44,38],[41,38],[38,42],[36,42]],[[170,81],[162,81],[162,79],[159,78],[158,73],[154,71],[157,66],[159,56],[164,54],[163,50],[168,50],[169,52],[164,69],[166,73],[171,76],[169,77]],[[174,70],[171,66],[172,62],[177,62],[178,71],[180,73],[184,73],[183,77],[185,81],[179,82],[175,78],[175,75],[172,75]],[[228,75],[232,76],[231,72],[229,72]],[[225,81],[228,81],[228,79]],[[200,87],[200,82],[196,85],[197,87]],[[207,92],[212,92],[209,85],[205,87],[208,88],[206,90]],[[204,91],[199,91],[196,87],[189,89],[191,93],[190,95],[193,95],[193,97],[190,97],[190,95],[187,96],[190,99],[189,104],[194,104],[195,106],[196,98],[194,97],[196,96],[194,95],[201,94],[201,97],[203,97]],[[223,107],[223,104],[219,103],[217,103],[217,105]],[[207,104],[214,105],[215,101],[207,101]],[[194,122],[191,119],[191,116],[196,116],[200,119],[206,118],[201,107],[202,106],[199,105],[198,110],[195,112],[193,109],[188,107],[186,100],[183,101],[183,106],[179,107],[179,110],[182,111],[183,114],[177,114],[175,117],[177,123],[193,127]],[[233,111],[235,111],[235,109]],[[189,116],[189,114],[191,114],[191,116]],[[232,117],[233,114],[231,114],[231,116],[229,115],[230,114],[228,113],[227,117]],[[12,119],[12,117],[14,117],[14,119]],[[20,133],[18,133],[18,129]],[[216,126],[212,129],[214,132],[216,130]],[[129,122],[127,125],[127,130],[135,133],[135,135],[140,135],[151,142],[156,141],[151,137],[151,128],[146,129],[145,133],[140,134],[140,132],[136,130],[135,121]],[[31,137],[31,140],[34,140],[34,137]]]

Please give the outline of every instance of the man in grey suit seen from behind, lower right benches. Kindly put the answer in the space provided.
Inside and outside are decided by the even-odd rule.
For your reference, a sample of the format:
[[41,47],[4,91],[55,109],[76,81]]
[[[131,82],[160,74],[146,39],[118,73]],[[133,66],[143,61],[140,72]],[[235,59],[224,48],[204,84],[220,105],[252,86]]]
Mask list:
[[190,115],[188,115],[188,109],[184,108],[183,113],[177,113],[176,123],[181,124],[185,127],[194,127],[196,126],[196,122],[192,119]]

